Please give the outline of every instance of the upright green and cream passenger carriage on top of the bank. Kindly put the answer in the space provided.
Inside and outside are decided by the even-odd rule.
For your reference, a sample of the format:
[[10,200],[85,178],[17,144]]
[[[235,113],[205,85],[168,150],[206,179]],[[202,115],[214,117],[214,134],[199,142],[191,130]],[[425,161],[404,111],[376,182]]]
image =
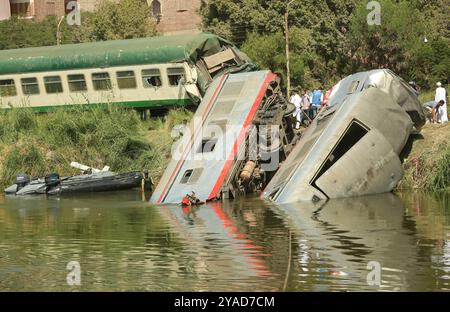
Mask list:
[[0,109],[199,102],[210,82],[256,66],[208,33],[0,51]]

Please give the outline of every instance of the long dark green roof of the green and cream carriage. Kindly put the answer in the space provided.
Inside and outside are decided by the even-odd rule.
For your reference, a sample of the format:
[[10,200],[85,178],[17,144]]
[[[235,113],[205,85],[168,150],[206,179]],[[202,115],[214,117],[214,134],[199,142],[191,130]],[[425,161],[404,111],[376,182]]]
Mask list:
[[195,64],[199,54],[219,52],[223,45],[234,47],[216,35],[199,33],[3,50],[0,75],[184,60]]

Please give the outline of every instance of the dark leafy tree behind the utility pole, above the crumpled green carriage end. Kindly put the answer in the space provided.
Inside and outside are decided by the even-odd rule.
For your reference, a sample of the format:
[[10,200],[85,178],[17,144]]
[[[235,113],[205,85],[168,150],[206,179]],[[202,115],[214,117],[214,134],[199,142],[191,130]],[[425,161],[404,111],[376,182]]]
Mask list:
[[[297,0],[289,7],[289,25],[295,32],[308,33],[308,43],[302,49],[292,49],[293,79],[308,86],[330,85],[342,72],[340,68],[346,63],[344,38],[349,30],[351,13],[356,0]],[[285,62],[284,44],[280,40],[284,36],[284,14],[286,0],[209,0],[203,1],[201,14],[203,27],[238,45],[248,52],[252,46],[256,51],[258,44],[269,48],[271,63]],[[260,34],[263,37],[258,40]],[[266,37],[267,36],[267,37]],[[280,37],[281,36],[281,37]],[[273,37],[273,38],[272,38]],[[290,35],[291,45],[300,38]],[[277,39],[276,48],[267,47],[262,38]],[[247,40],[247,41],[246,41]],[[301,40],[299,42],[302,42]],[[248,52],[252,54],[252,52]],[[264,54],[265,52],[260,52]],[[267,60],[254,59],[257,63]],[[282,71],[284,72],[284,70]],[[298,76],[299,73],[302,73]]]

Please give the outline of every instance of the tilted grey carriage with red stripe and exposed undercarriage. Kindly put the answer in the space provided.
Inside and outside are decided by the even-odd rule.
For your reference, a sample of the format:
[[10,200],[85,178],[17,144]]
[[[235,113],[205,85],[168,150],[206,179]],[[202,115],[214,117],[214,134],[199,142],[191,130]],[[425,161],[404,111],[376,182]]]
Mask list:
[[292,110],[270,71],[217,78],[181,131],[150,201],[179,203],[191,192],[207,201],[262,190],[295,141]]

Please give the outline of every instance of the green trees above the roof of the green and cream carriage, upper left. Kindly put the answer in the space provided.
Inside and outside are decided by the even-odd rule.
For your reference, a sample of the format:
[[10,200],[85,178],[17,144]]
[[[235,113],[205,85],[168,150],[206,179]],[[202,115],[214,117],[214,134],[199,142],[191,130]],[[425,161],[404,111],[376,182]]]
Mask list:
[[[145,0],[103,0],[94,12],[81,12],[81,26],[61,23],[61,43],[131,39],[156,35],[156,24]],[[0,21],[0,50],[56,44],[58,20],[12,17]]]

